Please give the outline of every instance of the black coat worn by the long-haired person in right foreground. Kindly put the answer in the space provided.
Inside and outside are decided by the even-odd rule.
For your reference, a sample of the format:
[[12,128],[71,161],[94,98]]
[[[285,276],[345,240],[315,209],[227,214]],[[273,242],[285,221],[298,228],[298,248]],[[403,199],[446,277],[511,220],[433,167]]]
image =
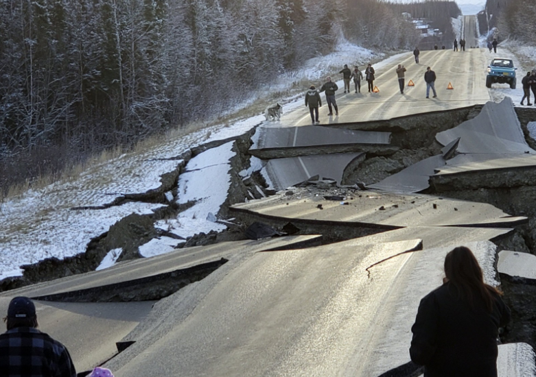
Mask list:
[[421,300],[410,356],[425,366],[425,377],[497,377],[498,329],[510,309],[494,296],[492,313],[476,292],[473,307],[461,300],[451,282]]

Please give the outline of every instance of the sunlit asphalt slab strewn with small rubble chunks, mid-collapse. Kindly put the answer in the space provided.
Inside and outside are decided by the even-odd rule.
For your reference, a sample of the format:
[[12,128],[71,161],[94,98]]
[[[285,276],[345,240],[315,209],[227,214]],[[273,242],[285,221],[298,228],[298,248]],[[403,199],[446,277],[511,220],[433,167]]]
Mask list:
[[[328,225],[393,230],[408,226],[471,226],[512,228],[526,217],[510,216],[491,204],[430,195],[397,195],[348,191],[345,202],[325,200],[320,193],[302,190],[231,206],[246,222],[271,221],[295,226]],[[346,205],[342,205],[347,203]]]

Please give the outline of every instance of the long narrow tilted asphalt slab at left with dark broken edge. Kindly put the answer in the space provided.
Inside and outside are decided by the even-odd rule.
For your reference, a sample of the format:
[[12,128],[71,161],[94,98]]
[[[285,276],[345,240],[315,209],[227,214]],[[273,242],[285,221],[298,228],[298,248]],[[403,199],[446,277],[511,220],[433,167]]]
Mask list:
[[[112,297],[110,300],[113,301],[136,301],[137,296],[150,294],[160,295],[157,298],[161,298],[185,285],[179,282],[179,287],[170,292],[167,291],[169,287],[166,287],[170,283],[165,284],[168,280],[164,280],[162,287],[157,284],[162,279],[182,279],[188,283],[195,282],[205,278],[208,273],[220,267],[222,263],[219,261],[222,259],[226,260],[239,254],[316,245],[321,242],[321,238],[321,236],[314,235],[284,236],[259,241],[244,240],[185,247],[152,258],[128,260],[100,271],[82,273],[8,291],[0,294],[0,297],[1,295],[17,294],[69,302],[78,300],[96,302],[106,300],[106,297]],[[210,263],[215,264],[215,266],[212,268]],[[196,266],[205,268],[196,269],[194,268]],[[152,293],[153,291],[156,293]],[[141,300],[148,299],[141,298]]]

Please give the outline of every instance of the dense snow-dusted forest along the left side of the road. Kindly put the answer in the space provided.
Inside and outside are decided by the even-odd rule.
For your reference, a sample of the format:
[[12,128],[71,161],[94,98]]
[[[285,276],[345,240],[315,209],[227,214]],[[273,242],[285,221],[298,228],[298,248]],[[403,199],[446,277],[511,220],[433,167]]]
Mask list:
[[377,0],[0,0],[0,189],[208,119],[345,36],[410,49]]

